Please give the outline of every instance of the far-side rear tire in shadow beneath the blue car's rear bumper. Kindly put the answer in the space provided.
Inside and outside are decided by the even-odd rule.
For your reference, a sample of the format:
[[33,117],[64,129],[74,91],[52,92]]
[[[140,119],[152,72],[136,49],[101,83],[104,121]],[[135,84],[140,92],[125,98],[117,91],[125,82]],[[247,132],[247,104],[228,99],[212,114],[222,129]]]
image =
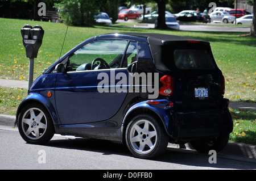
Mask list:
[[190,141],[190,144],[200,153],[209,153],[210,150],[221,151],[228,144],[228,141],[229,134],[223,134],[216,138]]

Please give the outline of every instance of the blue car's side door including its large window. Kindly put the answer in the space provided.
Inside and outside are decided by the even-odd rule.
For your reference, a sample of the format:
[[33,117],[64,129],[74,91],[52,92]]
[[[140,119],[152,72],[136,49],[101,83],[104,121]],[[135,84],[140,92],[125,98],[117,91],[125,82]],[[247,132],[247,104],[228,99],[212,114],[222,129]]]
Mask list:
[[123,56],[128,43],[96,40],[69,57],[67,73],[58,73],[56,79],[55,99],[61,124],[103,121],[117,113],[129,89],[127,60]]

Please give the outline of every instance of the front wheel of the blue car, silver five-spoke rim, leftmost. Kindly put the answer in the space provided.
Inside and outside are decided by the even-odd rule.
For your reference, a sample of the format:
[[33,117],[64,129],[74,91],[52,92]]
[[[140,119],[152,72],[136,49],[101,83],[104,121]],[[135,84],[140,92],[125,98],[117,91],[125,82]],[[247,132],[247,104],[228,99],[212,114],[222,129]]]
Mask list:
[[30,144],[44,144],[55,133],[51,116],[39,103],[27,104],[22,108],[18,116],[18,129],[23,140]]

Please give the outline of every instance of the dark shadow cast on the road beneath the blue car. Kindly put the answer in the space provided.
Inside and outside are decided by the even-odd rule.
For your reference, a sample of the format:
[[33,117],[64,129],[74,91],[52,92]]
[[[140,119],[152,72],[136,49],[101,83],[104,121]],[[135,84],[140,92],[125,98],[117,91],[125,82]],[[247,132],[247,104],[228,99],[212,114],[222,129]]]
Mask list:
[[[51,140],[46,146],[64,149],[77,149],[85,151],[94,151],[103,155],[123,155],[125,157],[133,157],[126,145],[117,144],[110,141],[93,140],[86,138],[76,138],[67,140]],[[195,167],[212,167],[213,169],[255,169],[256,164],[251,163],[254,167],[250,167],[246,162],[237,161],[226,158],[218,158],[217,163],[210,164],[208,159],[210,155],[199,154],[197,151],[184,150],[176,148],[167,148],[166,152],[158,158],[155,158],[153,164],[158,169],[156,162],[175,163],[184,166]],[[138,158],[139,159],[139,158]],[[140,159],[142,161],[142,159]],[[251,165],[250,164],[250,165]],[[133,168],[130,168],[133,169]],[[142,168],[143,169],[143,168]],[[172,167],[167,168],[172,169]]]

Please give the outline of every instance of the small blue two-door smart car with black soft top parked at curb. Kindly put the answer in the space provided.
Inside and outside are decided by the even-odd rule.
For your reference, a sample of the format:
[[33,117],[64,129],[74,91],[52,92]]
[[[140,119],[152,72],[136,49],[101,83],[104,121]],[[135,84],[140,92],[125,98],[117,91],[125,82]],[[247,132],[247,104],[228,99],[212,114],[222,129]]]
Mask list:
[[20,103],[30,144],[53,134],[118,141],[154,158],[168,142],[220,151],[233,130],[225,81],[210,44],[156,33],[85,40],[49,66]]

